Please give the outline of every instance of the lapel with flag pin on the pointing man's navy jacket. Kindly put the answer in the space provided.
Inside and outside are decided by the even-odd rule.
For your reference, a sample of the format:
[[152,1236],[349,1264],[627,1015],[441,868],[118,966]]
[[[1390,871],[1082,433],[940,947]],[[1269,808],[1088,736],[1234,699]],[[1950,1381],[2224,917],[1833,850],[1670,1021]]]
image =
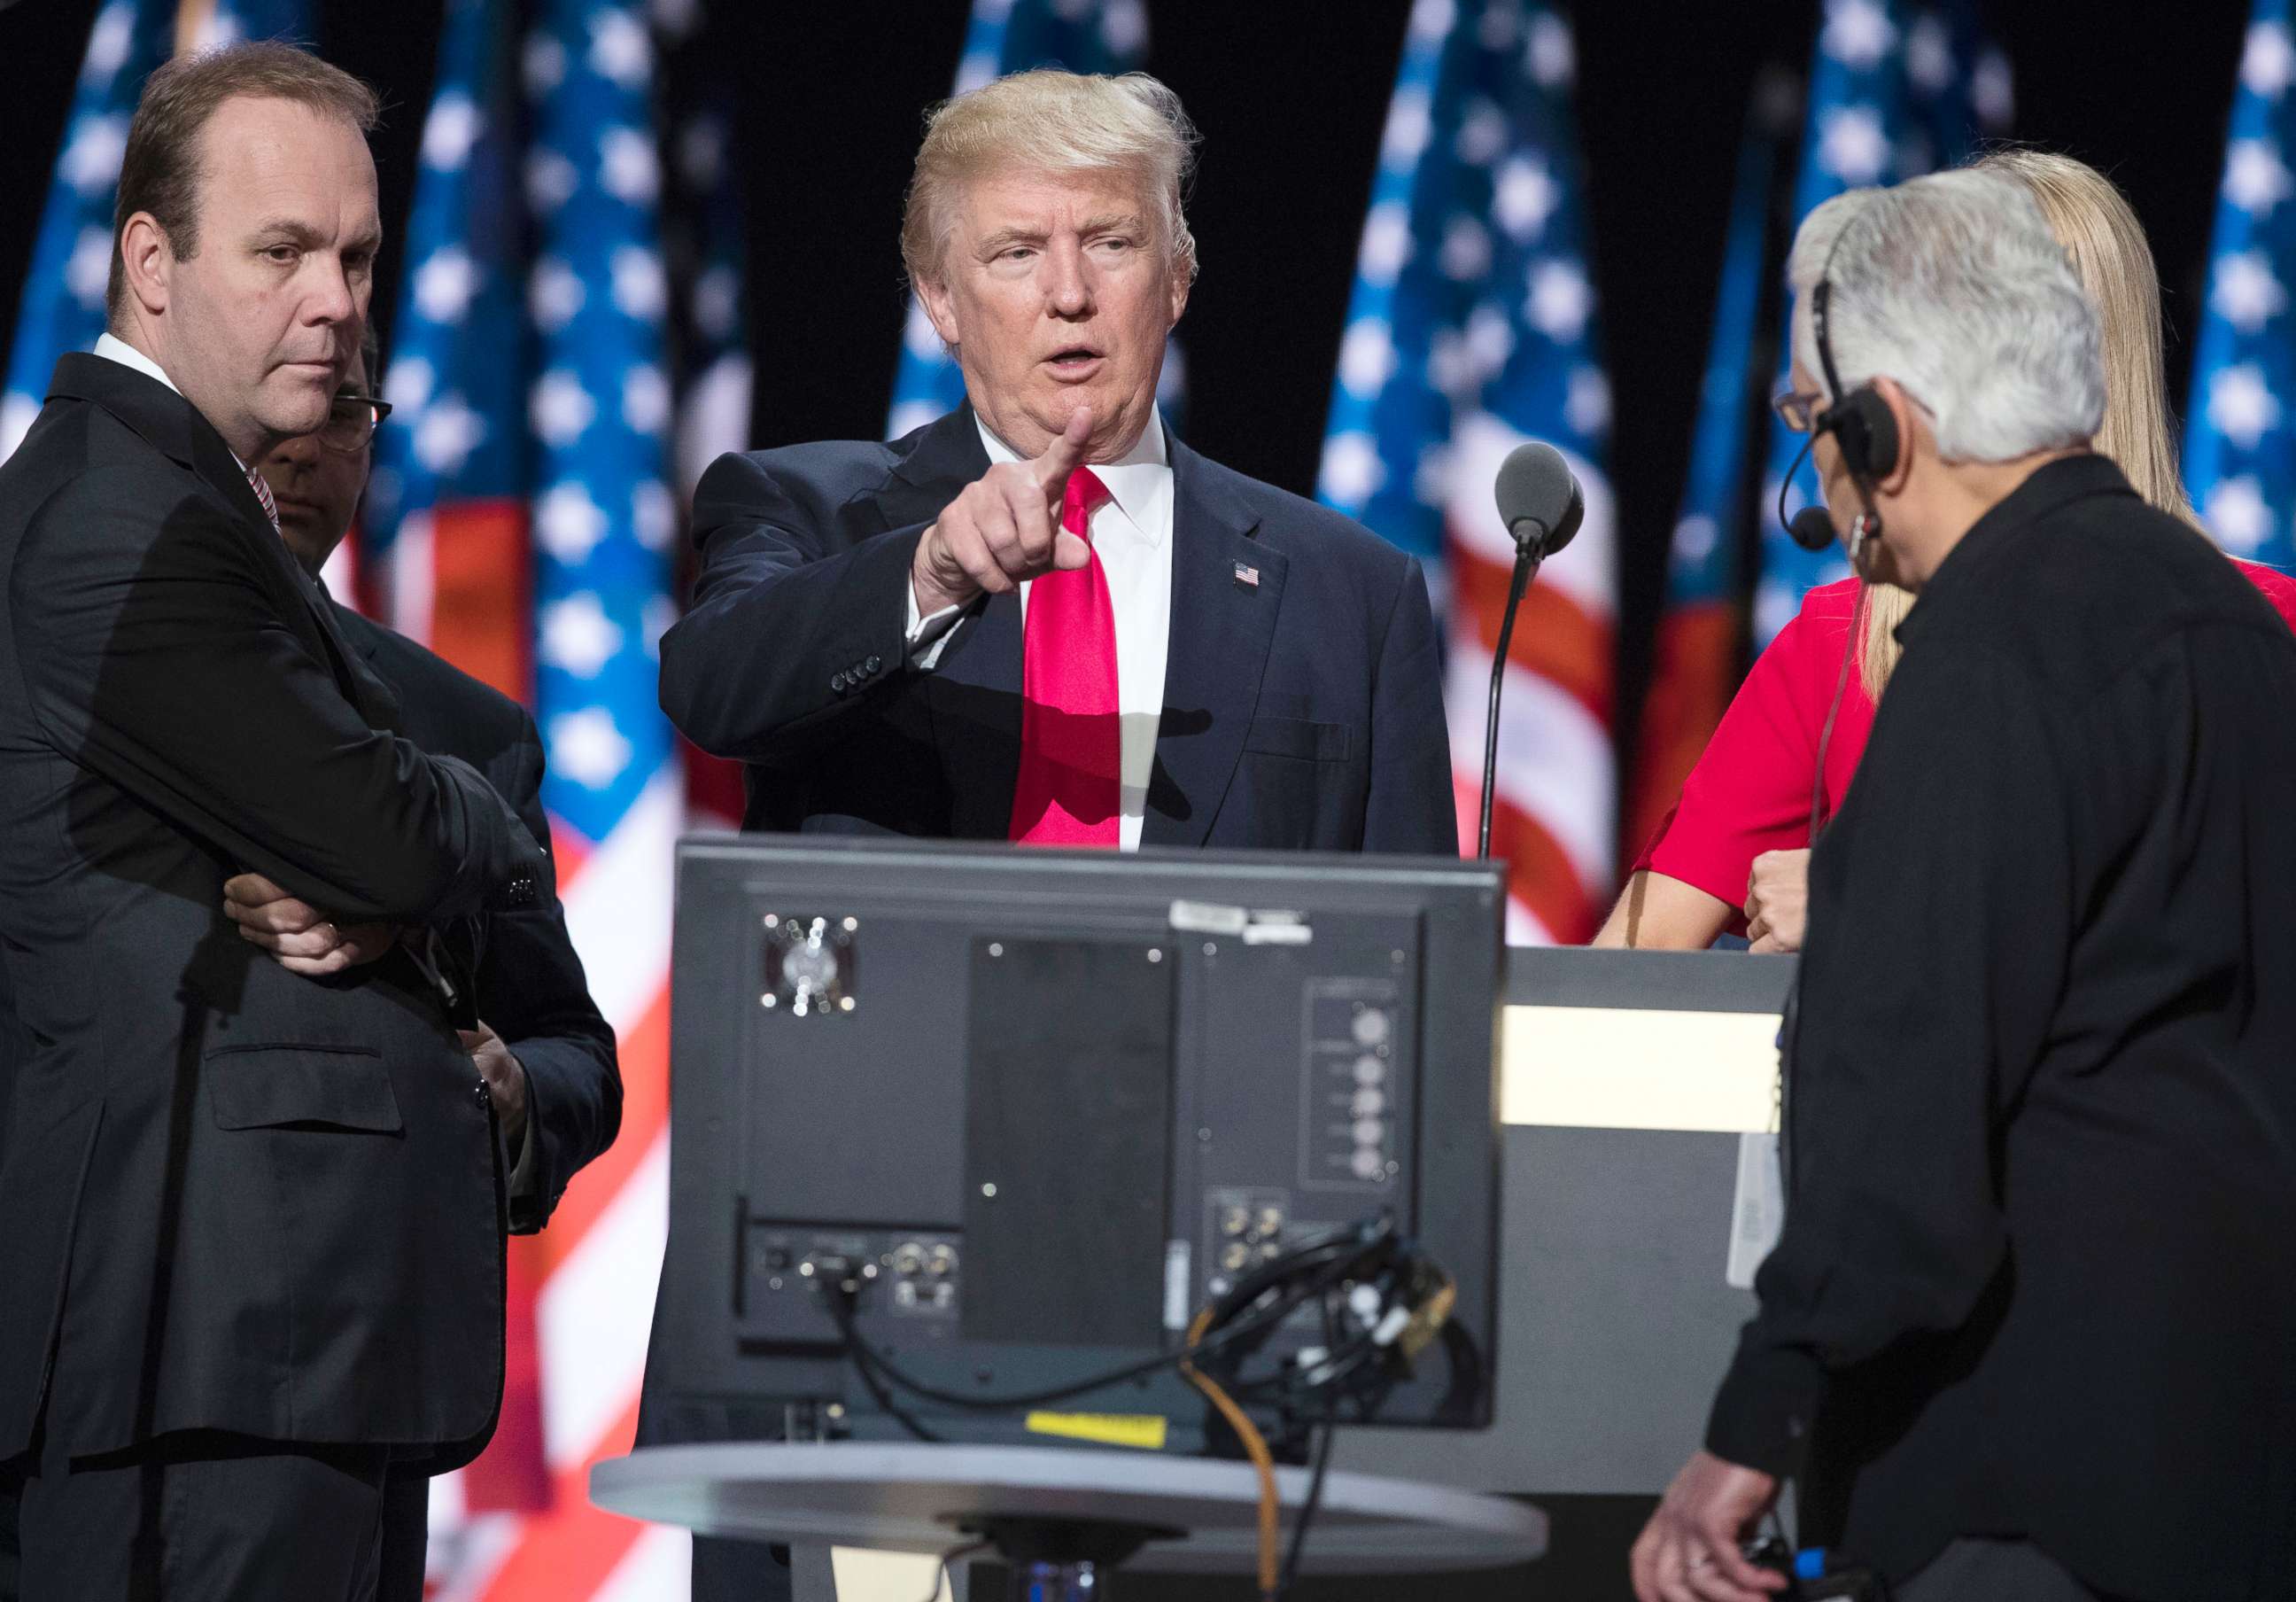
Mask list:
[[1258,514],[1176,438],[1171,503],[1171,647],[1141,845],[1203,845],[1244,751],[1288,560],[1251,537]]

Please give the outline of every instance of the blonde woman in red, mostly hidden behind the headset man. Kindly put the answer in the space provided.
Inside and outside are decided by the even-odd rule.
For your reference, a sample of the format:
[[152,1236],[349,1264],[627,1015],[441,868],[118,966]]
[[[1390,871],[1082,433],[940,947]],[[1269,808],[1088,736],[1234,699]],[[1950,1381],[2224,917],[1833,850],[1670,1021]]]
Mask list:
[[[2193,537],[2202,539],[2167,429],[2161,282],[2128,202],[2105,174],[2071,156],[2002,149],[1977,165],[2032,190],[2099,310],[2105,420],[2096,450],[2119,464],[2140,496],[2193,523]],[[2239,567],[2296,629],[2296,581],[2257,562]],[[1717,934],[1743,932],[1754,950],[1800,948],[1812,801],[1818,819],[1841,803],[1896,668],[1896,624],[1910,604],[1910,594],[1890,585],[1864,585],[1860,597],[1855,578],[1818,585],[1802,599],[1802,611],[1747,672],[1596,946],[1694,950]],[[1855,656],[1844,663],[1853,624]]]

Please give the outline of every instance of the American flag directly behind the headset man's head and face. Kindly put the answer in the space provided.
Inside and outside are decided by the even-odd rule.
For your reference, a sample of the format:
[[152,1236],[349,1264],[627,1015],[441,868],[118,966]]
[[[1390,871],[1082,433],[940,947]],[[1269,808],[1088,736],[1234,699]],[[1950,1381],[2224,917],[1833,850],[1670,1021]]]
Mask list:
[[[1846,188],[1899,184],[1956,165],[1979,138],[2007,131],[2009,62],[1984,41],[1972,11],[1972,5],[1825,0],[1809,71],[1802,177],[1793,188],[1795,225]],[[1779,340],[1779,386],[1791,360]],[[1802,551],[1777,526],[1777,482],[1802,443],[1773,420],[1761,585],[1754,590],[1756,645],[1786,627],[1807,590],[1851,576],[1839,551]],[[1789,516],[1809,503],[1814,482],[1807,466],[1795,475],[1786,491]]]

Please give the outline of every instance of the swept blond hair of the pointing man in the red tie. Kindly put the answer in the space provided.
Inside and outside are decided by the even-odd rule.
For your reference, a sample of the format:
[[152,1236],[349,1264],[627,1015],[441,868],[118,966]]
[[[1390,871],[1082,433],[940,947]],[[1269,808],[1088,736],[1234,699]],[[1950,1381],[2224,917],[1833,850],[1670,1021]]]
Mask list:
[[912,287],[941,282],[964,186],[994,172],[1132,172],[1153,202],[1173,273],[1196,282],[1196,236],[1180,200],[1196,170],[1196,126],[1180,96],[1148,73],[1120,78],[1013,73],[925,115],[925,142],[900,218]]

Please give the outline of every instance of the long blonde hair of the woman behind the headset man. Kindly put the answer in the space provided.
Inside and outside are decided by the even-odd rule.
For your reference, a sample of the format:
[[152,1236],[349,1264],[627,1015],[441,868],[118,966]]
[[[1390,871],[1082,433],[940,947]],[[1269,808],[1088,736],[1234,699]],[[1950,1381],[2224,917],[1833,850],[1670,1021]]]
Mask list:
[[[2103,172],[2085,161],[2046,149],[1993,149],[1977,168],[2011,177],[2032,190],[2057,236],[2080,287],[2096,305],[2105,353],[2105,422],[2096,450],[2119,464],[2128,484],[2151,505],[2183,519],[2200,519],[2186,500],[2177,471],[2177,438],[2170,431],[2167,381],[2161,367],[2161,278],[2154,271],[2144,225]],[[1864,633],[1857,645],[1857,677],[1880,700],[1896,668],[1896,627],[1913,608],[1913,592],[1867,585]]]

